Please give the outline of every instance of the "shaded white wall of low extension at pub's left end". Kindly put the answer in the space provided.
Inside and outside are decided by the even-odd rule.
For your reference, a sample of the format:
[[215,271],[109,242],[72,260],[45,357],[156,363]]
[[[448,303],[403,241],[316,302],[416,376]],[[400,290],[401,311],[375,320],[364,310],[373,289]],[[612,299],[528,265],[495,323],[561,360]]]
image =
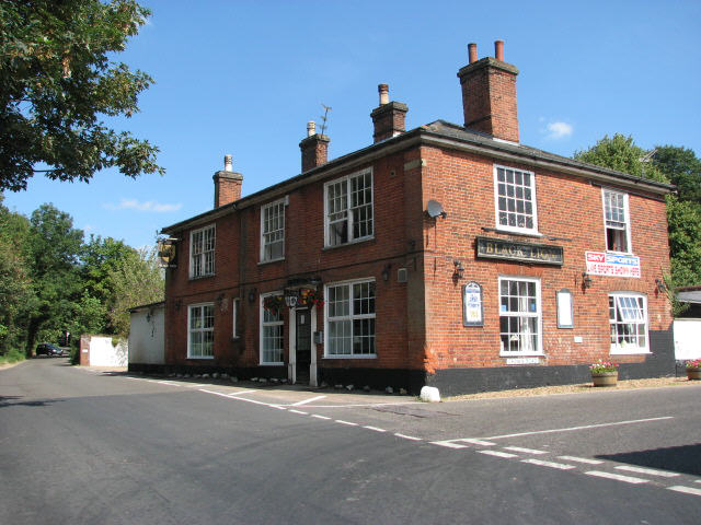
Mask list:
[[131,312],[129,363],[164,364],[165,308],[152,306]]

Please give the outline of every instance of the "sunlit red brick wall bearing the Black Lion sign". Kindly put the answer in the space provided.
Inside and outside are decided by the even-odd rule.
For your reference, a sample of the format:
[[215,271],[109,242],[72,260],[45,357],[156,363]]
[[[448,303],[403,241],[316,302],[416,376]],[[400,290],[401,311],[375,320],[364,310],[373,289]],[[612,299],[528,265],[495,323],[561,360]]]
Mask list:
[[[669,270],[665,203],[630,195],[633,254],[641,258],[642,277],[622,279],[593,276],[593,287],[582,288],[586,250],[605,252],[601,188],[589,182],[543,170],[499,162],[536,174],[538,225],[541,234],[563,240],[533,238],[487,232],[495,228],[493,166],[495,162],[468,153],[423,148],[424,206],[436,199],[448,212],[445,220],[424,220],[424,272],[426,280],[426,339],[430,366],[502,366],[499,357],[499,276],[540,278],[543,364],[590,363],[609,357],[608,293],[634,291],[647,295],[650,330],[668,329],[669,304],[655,290],[655,279]],[[490,236],[518,242],[560,245],[564,265],[552,267],[475,258],[474,237]],[[464,278],[452,278],[453,260],[466,268]],[[462,326],[461,287],[476,281],[484,293],[484,327]],[[556,326],[555,292],[574,294],[574,329]],[[574,336],[583,338],[574,342]],[[616,357],[639,362],[643,357]]]

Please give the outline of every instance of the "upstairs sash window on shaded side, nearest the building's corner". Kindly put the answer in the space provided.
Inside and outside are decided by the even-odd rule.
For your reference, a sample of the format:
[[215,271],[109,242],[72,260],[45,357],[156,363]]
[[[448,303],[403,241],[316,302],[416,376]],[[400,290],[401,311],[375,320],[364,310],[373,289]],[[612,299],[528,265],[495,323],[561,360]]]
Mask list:
[[372,236],[372,170],[326,183],[324,194],[326,246]]

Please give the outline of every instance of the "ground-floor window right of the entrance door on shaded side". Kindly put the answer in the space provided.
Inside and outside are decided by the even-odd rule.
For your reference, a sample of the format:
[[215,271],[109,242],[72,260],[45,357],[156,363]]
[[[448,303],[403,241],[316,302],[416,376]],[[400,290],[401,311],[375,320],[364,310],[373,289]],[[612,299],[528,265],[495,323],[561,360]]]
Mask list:
[[375,281],[326,285],[326,357],[375,357]]

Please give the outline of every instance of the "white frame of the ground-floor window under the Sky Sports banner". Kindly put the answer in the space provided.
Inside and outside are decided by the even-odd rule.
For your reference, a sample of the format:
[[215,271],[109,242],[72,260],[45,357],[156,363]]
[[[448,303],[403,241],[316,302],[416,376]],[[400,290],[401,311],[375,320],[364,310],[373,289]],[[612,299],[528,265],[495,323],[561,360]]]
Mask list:
[[[611,355],[630,355],[637,353],[651,353],[650,351],[650,317],[647,315],[647,295],[639,292],[609,292],[609,329]],[[613,311],[611,310],[611,301],[613,301]],[[635,310],[631,311],[631,303],[635,303]],[[616,313],[616,318],[611,319],[611,314]],[[623,314],[625,317],[632,316],[629,319],[619,319],[619,314]],[[628,320],[628,323],[627,323]],[[635,325],[636,335],[632,336],[628,334],[619,334],[620,327],[627,326],[628,330],[631,330],[631,325]],[[616,327],[616,332],[613,331]],[[640,328],[643,328],[642,330]],[[641,338],[644,341],[644,346],[636,343],[629,343],[628,340],[620,339],[623,337],[634,337],[637,341]]]

